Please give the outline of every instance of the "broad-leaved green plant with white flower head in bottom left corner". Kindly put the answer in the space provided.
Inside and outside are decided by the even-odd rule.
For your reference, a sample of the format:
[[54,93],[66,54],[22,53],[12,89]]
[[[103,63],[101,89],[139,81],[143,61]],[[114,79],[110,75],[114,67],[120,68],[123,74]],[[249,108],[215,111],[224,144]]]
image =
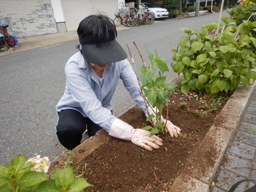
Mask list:
[[0,164],[0,192],[80,192],[90,186],[84,178],[74,178],[71,167],[57,170],[55,179],[48,180],[47,160],[32,159],[25,162],[23,155],[16,155],[9,164]]

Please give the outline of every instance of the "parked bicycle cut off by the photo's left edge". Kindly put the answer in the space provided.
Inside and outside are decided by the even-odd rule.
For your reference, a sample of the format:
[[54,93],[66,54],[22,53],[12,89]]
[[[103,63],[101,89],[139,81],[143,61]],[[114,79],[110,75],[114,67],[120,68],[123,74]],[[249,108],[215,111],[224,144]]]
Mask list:
[[7,27],[9,25],[0,25],[0,47],[14,47],[15,46],[15,40],[12,38],[12,36],[9,34]]

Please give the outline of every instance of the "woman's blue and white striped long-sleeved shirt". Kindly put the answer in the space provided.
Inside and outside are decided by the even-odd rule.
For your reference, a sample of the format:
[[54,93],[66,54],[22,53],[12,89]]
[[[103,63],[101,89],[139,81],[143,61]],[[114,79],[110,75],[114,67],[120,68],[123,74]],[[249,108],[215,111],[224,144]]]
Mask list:
[[102,87],[91,65],[81,52],[74,54],[65,66],[66,88],[56,106],[57,111],[74,109],[109,132],[115,116],[111,114],[111,99],[119,78],[131,98],[145,112],[136,75],[127,59],[109,64],[104,69]]

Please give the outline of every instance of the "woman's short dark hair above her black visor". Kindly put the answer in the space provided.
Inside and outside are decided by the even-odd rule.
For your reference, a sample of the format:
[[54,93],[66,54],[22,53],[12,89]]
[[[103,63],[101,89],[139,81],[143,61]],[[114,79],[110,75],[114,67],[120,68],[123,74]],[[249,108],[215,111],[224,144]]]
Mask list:
[[93,41],[96,44],[109,41],[111,34],[117,36],[116,26],[113,20],[105,15],[90,15],[85,17],[79,23],[77,34],[81,38],[86,35],[92,35]]

